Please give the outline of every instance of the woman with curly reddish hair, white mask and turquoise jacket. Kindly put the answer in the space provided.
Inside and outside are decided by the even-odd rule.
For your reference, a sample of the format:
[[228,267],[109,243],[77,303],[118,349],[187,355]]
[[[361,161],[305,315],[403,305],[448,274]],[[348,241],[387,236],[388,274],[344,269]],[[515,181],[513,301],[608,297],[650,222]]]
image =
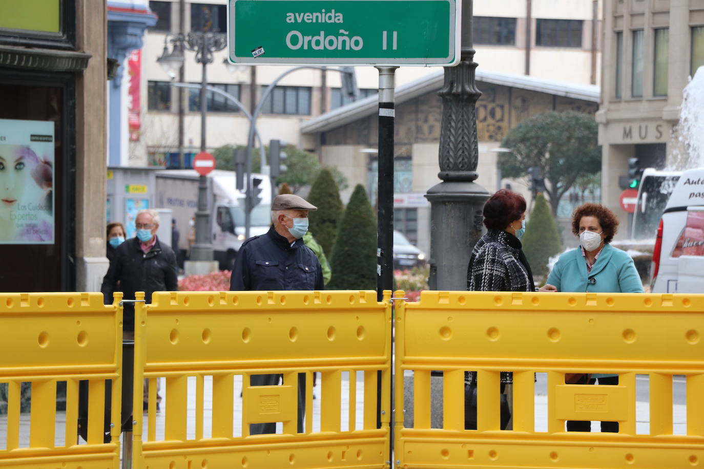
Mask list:
[[[560,256],[548,276],[543,292],[643,293],[633,259],[610,245],[618,229],[616,215],[600,204],[587,203],[572,214],[572,233],[579,248]],[[617,385],[618,375],[570,373],[572,384]],[[589,420],[567,420],[568,432],[589,432]],[[618,422],[601,422],[602,432],[618,432]]]

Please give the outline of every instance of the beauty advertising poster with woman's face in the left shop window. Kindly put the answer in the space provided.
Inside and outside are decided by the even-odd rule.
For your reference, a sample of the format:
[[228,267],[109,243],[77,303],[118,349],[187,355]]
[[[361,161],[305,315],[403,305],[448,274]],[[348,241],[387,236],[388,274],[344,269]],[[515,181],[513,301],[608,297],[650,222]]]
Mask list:
[[54,244],[54,122],[0,119],[0,244]]

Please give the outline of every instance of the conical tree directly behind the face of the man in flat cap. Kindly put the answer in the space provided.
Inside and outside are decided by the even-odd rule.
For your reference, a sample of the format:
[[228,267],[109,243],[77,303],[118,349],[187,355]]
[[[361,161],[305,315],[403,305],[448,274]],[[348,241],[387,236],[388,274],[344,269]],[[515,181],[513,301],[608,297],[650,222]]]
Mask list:
[[322,250],[329,253],[337,239],[337,230],[342,217],[342,200],[337,183],[329,169],[323,168],[310,186],[308,202],[318,207],[308,214],[310,232],[322,246]]

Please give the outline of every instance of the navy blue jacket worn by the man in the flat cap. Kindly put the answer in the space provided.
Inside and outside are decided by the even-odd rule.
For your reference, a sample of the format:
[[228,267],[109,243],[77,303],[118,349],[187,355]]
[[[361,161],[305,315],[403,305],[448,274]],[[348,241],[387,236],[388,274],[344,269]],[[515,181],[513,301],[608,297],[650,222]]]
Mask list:
[[237,252],[230,290],[323,290],[322,269],[302,239],[293,246],[272,226]]

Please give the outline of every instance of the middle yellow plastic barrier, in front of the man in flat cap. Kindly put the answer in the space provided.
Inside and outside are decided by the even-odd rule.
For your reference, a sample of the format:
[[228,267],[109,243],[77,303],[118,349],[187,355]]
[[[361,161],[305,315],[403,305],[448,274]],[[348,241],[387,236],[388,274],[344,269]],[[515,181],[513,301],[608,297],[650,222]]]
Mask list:
[[[142,404],[142,379],[148,378],[149,412],[146,422],[135,418],[134,467],[387,466],[390,294],[377,302],[373,291],[166,292],[154,293],[152,304],[138,303],[134,408]],[[310,384],[316,371],[322,376],[322,395],[316,401],[320,431],[313,431]],[[356,372],[363,372],[363,378],[358,379]],[[283,385],[249,385],[251,375],[273,373],[283,375]],[[305,374],[307,383],[302,433],[297,432],[296,421],[299,373]],[[346,393],[344,373],[349,383]],[[377,409],[379,373],[381,409]],[[157,412],[156,380],[161,378],[165,387]],[[363,385],[363,404],[358,385]],[[347,428],[341,428],[344,401],[349,408]],[[208,429],[203,422],[209,421],[205,417],[210,403]],[[281,434],[249,434],[251,424],[274,422],[281,424]]]

